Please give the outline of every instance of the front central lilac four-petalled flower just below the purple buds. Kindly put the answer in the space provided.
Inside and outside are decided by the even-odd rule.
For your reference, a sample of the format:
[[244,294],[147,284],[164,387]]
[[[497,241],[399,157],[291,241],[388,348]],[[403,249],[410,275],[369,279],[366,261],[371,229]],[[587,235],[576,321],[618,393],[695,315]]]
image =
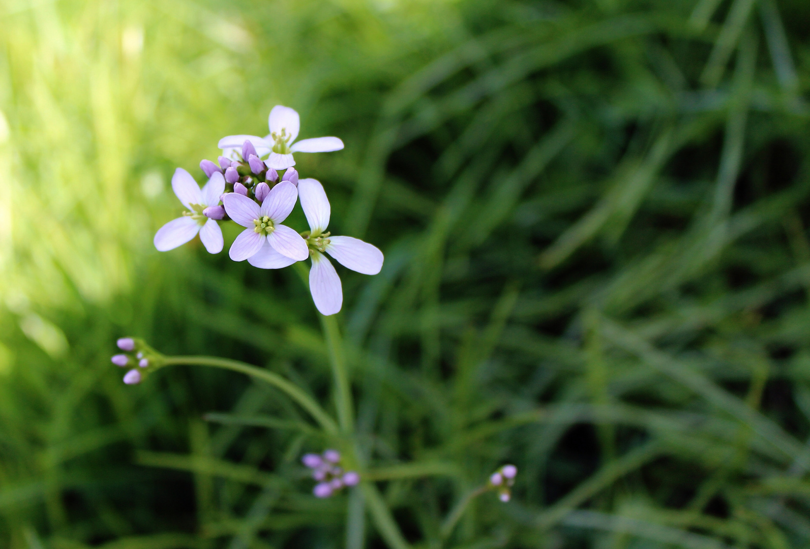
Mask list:
[[290,215],[297,198],[296,186],[289,181],[275,185],[262,201],[262,206],[241,194],[226,194],[225,211],[245,227],[245,231],[233,241],[228,253],[231,259],[235,262],[247,259],[251,265],[262,269],[279,269],[305,260],[309,255],[306,241],[281,224]]

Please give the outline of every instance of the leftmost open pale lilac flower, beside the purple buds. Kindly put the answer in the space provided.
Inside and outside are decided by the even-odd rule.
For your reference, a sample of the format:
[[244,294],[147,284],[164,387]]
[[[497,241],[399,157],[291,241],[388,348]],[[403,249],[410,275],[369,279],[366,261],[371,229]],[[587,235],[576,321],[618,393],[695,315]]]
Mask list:
[[189,172],[177,168],[172,177],[172,189],[189,211],[183,212],[182,217],[173,219],[158,229],[155,247],[160,252],[166,252],[184,245],[199,233],[200,240],[209,253],[220,253],[223,245],[222,230],[216,221],[204,215],[203,211],[208,206],[220,203],[220,194],[225,190],[222,174],[214,172],[203,189],[200,189]]

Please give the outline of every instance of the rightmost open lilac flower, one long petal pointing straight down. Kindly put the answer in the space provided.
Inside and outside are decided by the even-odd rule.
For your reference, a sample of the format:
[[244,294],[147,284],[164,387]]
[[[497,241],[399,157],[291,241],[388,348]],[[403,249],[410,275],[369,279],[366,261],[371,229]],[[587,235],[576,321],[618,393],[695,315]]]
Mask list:
[[335,267],[323,252],[334,257],[341,265],[363,274],[380,272],[382,252],[376,246],[352,236],[330,236],[330,233],[324,232],[329,225],[331,207],[318,181],[298,181],[298,195],[310,228],[309,238],[306,240],[312,257],[309,291],[312,292],[315,307],[321,314],[335,314],[343,305],[343,287]]

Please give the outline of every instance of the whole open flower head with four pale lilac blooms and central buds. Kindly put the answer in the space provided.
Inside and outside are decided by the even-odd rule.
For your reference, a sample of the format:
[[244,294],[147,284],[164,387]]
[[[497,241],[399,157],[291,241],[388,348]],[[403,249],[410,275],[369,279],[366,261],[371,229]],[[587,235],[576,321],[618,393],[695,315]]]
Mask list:
[[[343,306],[343,288],[324,253],[359,273],[377,274],[382,269],[382,252],[363,240],[326,232],[331,211],[326,192],[314,179],[299,180],[292,168],[296,164],[292,153],[339,151],[343,142],[336,137],[296,142],[298,113],[282,105],[271,110],[268,124],[270,134],[265,138],[230,135],[220,139],[223,154],[219,165],[211,160],[200,162],[208,177],[203,189],[189,172],[177,168],[172,189],[187,210],[160,228],[155,247],[165,252],[199,233],[208,252],[220,253],[223,236],[217,222],[234,221],[245,230],[228,251],[233,261],[247,260],[260,269],[281,269],[309,257],[309,290],[315,306],[324,315],[338,313]],[[280,175],[279,170],[283,170]],[[283,224],[299,199],[309,223],[306,232]]]

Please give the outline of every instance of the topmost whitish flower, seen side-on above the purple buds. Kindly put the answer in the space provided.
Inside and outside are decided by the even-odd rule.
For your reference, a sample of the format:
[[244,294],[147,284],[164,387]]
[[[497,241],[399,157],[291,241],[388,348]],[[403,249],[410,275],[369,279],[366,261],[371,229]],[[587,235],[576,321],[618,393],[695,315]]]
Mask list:
[[228,135],[221,138],[219,147],[223,150],[222,154],[232,160],[239,160],[242,143],[249,141],[256,148],[259,158],[270,155],[265,160],[267,168],[283,170],[296,165],[296,161],[292,159],[293,152],[330,152],[343,148],[343,141],[336,137],[301,139],[296,142],[301,126],[298,113],[280,104],[271,110],[267,125],[270,126],[270,134],[265,138],[256,135]]

